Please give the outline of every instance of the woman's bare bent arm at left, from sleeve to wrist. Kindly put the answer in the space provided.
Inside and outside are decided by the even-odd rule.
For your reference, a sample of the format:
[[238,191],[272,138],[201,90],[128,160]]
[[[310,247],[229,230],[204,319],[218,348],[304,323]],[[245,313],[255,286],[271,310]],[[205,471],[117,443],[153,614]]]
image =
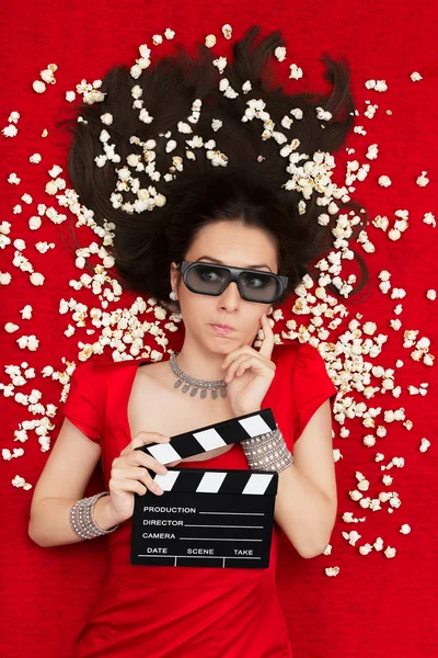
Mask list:
[[[36,484],[32,498],[28,536],[39,546],[83,542],[70,527],[70,508],[81,498],[100,460],[101,446],[88,439],[67,418]],[[94,507],[96,523],[107,530],[115,525],[110,496]]]

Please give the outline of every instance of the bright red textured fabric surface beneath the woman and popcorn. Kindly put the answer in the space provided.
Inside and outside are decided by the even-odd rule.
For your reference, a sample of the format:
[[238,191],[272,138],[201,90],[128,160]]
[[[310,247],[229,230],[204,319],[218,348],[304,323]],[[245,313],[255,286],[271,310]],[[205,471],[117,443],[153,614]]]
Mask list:
[[[411,356],[414,348],[404,344],[406,331],[417,331],[416,339],[429,339],[433,354],[437,344],[436,303],[426,298],[426,291],[437,287],[436,229],[423,223],[425,213],[437,215],[436,18],[434,3],[417,4],[413,0],[389,0],[384,4],[377,0],[320,0],[310,4],[249,3],[244,0],[239,7],[218,2],[208,8],[173,0],[166,3],[97,0],[67,4],[19,0],[4,9],[0,25],[2,127],[8,125],[12,111],[21,114],[18,136],[0,135],[1,180],[4,182],[1,220],[11,223],[12,241],[25,240],[24,254],[34,270],[46,276],[44,286],[33,286],[28,274],[12,264],[14,247],[10,245],[2,250],[0,270],[11,272],[12,282],[1,291],[1,382],[4,385],[10,382],[4,371],[7,365],[27,363],[35,368],[36,377],[24,387],[24,393],[37,388],[43,393],[45,405],[57,405],[54,428],[49,432],[53,442],[62,421],[61,387],[49,377],[44,378],[41,371],[47,364],[64,370],[61,359],[76,361],[78,342],[93,340],[84,329],[77,329],[70,339],[64,336],[68,324],[76,322],[71,321],[70,315],[59,314],[59,302],[73,297],[93,306],[99,303],[90,291],[76,292],[69,286],[69,281],[78,279],[81,272],[74,268],[74,258],[68,249],[72,241],[67,227],[55,225],[47,217],[43,217],[43,226],[37,231],[27,226],[28,218],[37,214],[38,203],[62,211],[45,194],[44,188],[49,180],[47,170],[54,163],[64,167],[61,175],[66,173],[67,140],[55,132],[55,122],[69,113],[65,93],[73,90],[83,78],[88,81],[102,78],[115,64],[132,64],[138,56],[138,46],[147,43],[153,47],[152,35],[163,33],[168,26],[175,30],[175,41],[183,44],[198,43],[214,32],[219,37],[220,53],[230,57],[230,43],[220,37],[222,24],[231,23],[239,37],[256,23],[262,26],[262,36],[280,29],[287,41],[288,59],[285,66],[277,63],[275,68],[284,71],[285,80],[291,63],[304,71],[303,80],[288,81],[286,89],[290,91],[310,88],[330,92],[319,61],[324,52],[335,58],[345,54],[350,63],[351,90],[360,112],[357,123],[364,125],[367,135],[351,134],[348,146],[357,151],[348,155],[343,150],[336,156],[336,162],[341,164],[339,170],[343,162],[354,158],[367,162],[368,146],[378,144],[379,158],[371,162],[370,175],[357,184],[353,197],[368,207],[370,218],[385,215],[391,225],[396,219],[396,209],[408,209],[410,227],[396,242],[389,240],[378,228],[369,227],[368,236],[376,247],[374,253],[367,257],[372,291],[364,304],[353,299],[345,302],[349,316],[344,318],[342,331],[347,331],[347,325],[356,314],[361,314],[361,321],[376,321],[377,334],[389,338],[373,365],[393,368],[395,385],[400,385],[402,392],[399,398],[390,390],[381,392],[380,378],[371,375],[371,385],[377,387],[373,397],[367,398],[358,390],[345,394],[355,402],[381,408],[378,424],[385,427],[388,434],[379,436],[374,447],[367,449],[362,444],[364,436],[374,432],[365,427],[360,418],[345,420],[349,431],[347,436],[339,433],[341,423],[334,422],[334,446],[341,451],[342,460],[336,464],[339,504],[331,541],[332,554],[304,560],[290,549],[285,537],[279,537],[277,588],[296,658],[417,658],[437,653],[434,585],[438,578],[435,554],[436,374],[434,368],[415,362]],[[173,52],[172,42],[165,43],[157,56],[168,52]],[[36,94],[32,82],[49,63],[59,67],[57,83],[48,86],[46,93]],[[410,79],[416,70],[423,76],[419,82]],[[384,79],[388,91],[367,90],[365,81],[369,79]],[[366,101],[379,105],[373,120],[362,116]],[[387,110],[392,114],[387,114]],[[46,138],[41,137],[44,128],[49,133]],[[28,162],[34,152],[43,156],[38,166]],[[419,188],[415,181],[424,170],[430,183]],[[20,185],[5,183],[11,172],[22,179]],[[378,184],[382,174],[391,177],[393,184],[390,188]],[[338,175],[337,181],[342,184],[344,178]],[[31,205],[21,201],[25,192],[32,194]],[[19,203],[23,212],[14,214],[13,207]],[[94,239],[88,229],[81,229],[80,236],[82,245]],[[42,254],[34,248],[37,240],[54,242],[55,248]],[[390,294],[379,291],[378,275],[382,270],[391,272],[393,287],[406,291],[405,298],[391,298]],[[128,299],[132,297],[124,295],[124,305],[129,306]],[[21,318],[20,310],[25,304],[34,308],[31,320]],[[401,315],[395,314],[399,304],[403,307]],[[290,309],[291,304],[285,305],[285,320],[292,317]],[[299,325],[310,322],[307,316],[295,319]],[[401,320],[400,330],[391,327],[394,319]],[[7,333],[3,327],[8,321],[19,325],[20,331]],[[16,339],[23,334],[38,338],[36,352],[19,348]],[[369,337],[362,336],[365,338]],[[180,331],[172,334],[170,347],[177,350],[181,339]],[[336,342],[334,330],[330,340]],[[111,350],[105,358],[111,359]],[[399,359],[405,367],[397,367]],[[429,383],[427,395],[410,396],[407,386],[418,387],[424,382]],[[20,392],[21,388],[15,387],[14,393]],[[41,416],[32,416],[13,398],[0,398],[0,402],[2,449],[23,447],[25,451],[22,457],[2,463],[1,655],[8,658],[24,655],[69,658],[104,583],[107,541],[103,537],[87,545],[42,548],[30,540],[27,523],[32,489],[13,487],[12,480],[19,475],[34,486],[47,453],[41,450],[34,429],[28,429],[28,440],[24,443],[14,441],[14,432],[21,429],[20,423],[24,420],[39,419]],[[404,409],[406,420],[413,422],[411,430],[403,422],[384,421],[385,410],[400,408]],[[418,451],[422,438],[431,442],[427,453]],[[377,452],[384,455],[382,463],[376,463]],[[381,481],[382,464],[399,456],[404,457],[404,466],[388,472],[394,480],[385,487]],[[390,510],[388,503],[382,503],[380,511],[360,509],[348,494],[356,488],[357,472],[370,480],[370,491],[366,495],[376,498],[382,490],[396,491],[401,507],[392,513],[387,511]],[[103,487],[103,475],[97,468],[87,495]],[[345,512],[366,521],[346,523],[342,519]],[[400,533],[403,523],[412,527],[407,535]],[[342,535],[353,530],[361,535],[356,546],[350,546]],[[376,551],[368,556],[359,554],[358,545],[372,544],[377,537],[383,538],[385,547],[396,548],[395,558],[388,559],[383,552]],[[338,576],[326,577],[324,569],[334,566],[339,567]]]

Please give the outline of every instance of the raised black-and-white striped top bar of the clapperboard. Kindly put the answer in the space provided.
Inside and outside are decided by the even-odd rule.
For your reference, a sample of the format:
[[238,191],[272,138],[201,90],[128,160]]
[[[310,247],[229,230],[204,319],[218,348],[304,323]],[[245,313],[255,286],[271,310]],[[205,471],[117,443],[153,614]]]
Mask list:
[[277,423],[273,410],[266,408],[204,428],[196,428],[191,432],[175,434],[171,436],[169,443],[150,443],[136,450],[152,455],[161,464],[170,464],[231,443],[239,443],[244,439],[252,439],[272,432],[276,428]]

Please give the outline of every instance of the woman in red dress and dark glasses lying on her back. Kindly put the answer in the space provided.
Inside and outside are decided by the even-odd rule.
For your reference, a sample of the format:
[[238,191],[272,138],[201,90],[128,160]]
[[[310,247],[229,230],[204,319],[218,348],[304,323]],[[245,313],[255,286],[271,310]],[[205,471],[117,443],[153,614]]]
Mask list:
[[[234,45],[234,64],[227,67],[230,86],[241,89],[251,80],[255,99],[270,103],[270,118],[278,126],[286,109],[300,109],[303,118],[286,129],[288,138],[299,136],[300,152],[338,147],[354,109],[342,67],[330,64],[334,91],[328,101],[319,98],[316,104],[335,113],[345,103],[349,112],[322,128],[312,97],[293,97],[292,104],[278,89],[265,88],[263,63],[283,41],[274,33],[250,54],[257,31],[252,29]],[[243,94],[224,99],[214,70],[207,59],[195,65],[181,53],[178,60],[159,63],[138,82],[143,94],[134,92],[143,95],[154,117],[141,125],[138,110],[145,105],[137,104],[132,116],[129,72],[114,69],[102,84],[106,95],[101,106],[82,106],[83,121],[73,128],[70,178],[81,201],[93,209],[105,245],[112,243],[120,280],[147,298],[152,295],[168,311],[178,311],[185,330],[176,358],[155,363],[91,360],[72,376],[66,419],[35,489],[30,535],[42,546],[53,546],[108,534],[108,575],[74,658],[291,656],[275,587],[278,527],[308,558],[323,552],[335,521],[330,398],[336,388],[318,350],[307,343],[275,347],[267,319],[272,305],[288,298],[328,245],[335,215],[328,224],[318,222],[322,188],[315,185],[310,196],[303,192],[309,203],[301,197],[302,181],[281,188],[287,177],[275,138],[262,140],[252,120],[242,122]],[[216,156],[193,158],[201,140],[193,137],[186,148],[183,135],[180,154],[186,148],[187,161],[182,167],[173,159],[169,168],[174,146],[160,138],[172,136],[176,141],[176,133],[168,131],[187,116],[194,99],[205,100],[203,112],[194,115],[194,132],[208,149],[216,147]],[[269,125],[266,116],[260,118]],[[208,143],[211,126],[218,127],[214,120],[223,120],[215,145]],[[153,144],[148,141],[152,135]],[[117,161],[117,154],[136,173],[120,177],[120,169],[108,164]],[[227,166],[211,166],[215,157],[222,157]],[[166,166],[169,175],[162,182],[157,171]],[[290,159],[287,171],[292,166]],[[139,195],[147,177],[155,179],[153,190]],[[315,180],[326,184],[321,172]],[[261,329],[263,340],[255,349]],[[182,381],[186,386],[177,385]],[[199,388],[206,394],[197,395]],[[280,464],[269,457],[268,469],[277,470],[279,480],[268,568],[131,565],[135,495],[159,497],[162,490],[150,472],[166,470],[135,449],[268,407],[284,457]],[[83,499],[99,460],[106,491]],[[239,443],[168,464],[176,465],[257,469],[247,447]],[[57,498],[59,492],[62,498]]]

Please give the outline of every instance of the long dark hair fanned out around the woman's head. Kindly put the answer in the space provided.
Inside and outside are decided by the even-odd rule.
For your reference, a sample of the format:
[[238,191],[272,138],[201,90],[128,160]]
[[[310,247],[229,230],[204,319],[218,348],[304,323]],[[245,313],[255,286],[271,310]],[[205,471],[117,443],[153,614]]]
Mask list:
[[[315,189],[306,200],[306,209],[299,211],[303,196],[298,190],[286,190],[284,184],[290,179],[286,167],[288,159],[279,155],[281,146],[274,137],[263,139],[263,122],[258,118],[242,122],[250,99],[262,99],[265,110],[275,123],[275,129],[283,132],[288,143],[299,139],[298,151],[312,159],[315,151],[332,154],[339,149],[354,124],[355,105],[349,90],[348,64],[334,61],[324,55],[324,73],[333,84],[328,98],[310,92],[286,94],[281,86],[275,87],[275,76],[269,66],[274,49],[286,45],[276,31],[265,37],[250,52],[250,46],[260,31],[253,26],[246,35],[233,45],[233,61],[229,63],[223,77],[239,95],[227,98],[219,89],[221,76],[212,65],[214,55],[204,44],[199,45],[199,56],[192,59],[180,45],[176,56],[168,56],[145,69],[134,80],[127,66],[116,66],[104,77],[101,91],[102,102],[81,103],[74,118],[58,122],[67,124],[72,134],[68,157],[70,181],[79,194],[79,202],[94,212],[94,222],[112,231],[112,245],[106,247],[115,259],[115,268],[123,287],[154,297],[170,311],[178,309],[177,303],[169,299],[170,263],[181,261],[196,238],[197,231],[206,224],[218,220],[240,219],[244,225],[257,227],[273,236],[277,243],[278,273],[289,277],[288,287],[278,300],[281,304],[301,282],[304,274],[315,281],[321,275],[312,270],[315,259],[320,260],[333,250],[332,229],[336,226],[339,213],[349,208],[349,234],[345,240],[356,239],[366,228],[366,209],[349,200],[336,201],[338,211],[328,216],[326,225],[319,224],[318,217],[327,209],[319,204],[323,194]],[[268,66],[265,68],[265,61]],[[251,82],[252,90],[243,93],[242,84]],[[151,123],[139,118],[139,111],[132,109],[131,88],[142,89],[143,106],[153,117]],[[192,124],[193,133],[187,135],[176,128],[178,122],[187,122],[195,99],[203,101],[200,116]],[[316,107],[332,114],[330,121],[316,116]],[[283,128],[285,115],[300,109],[302,118],[293,118],[289,128]],[[110,113],[113,123],[105,125],[101,115]],[[78,117],[82,117],[78,122]],[[212,131],[212,120],[221,120],[222,127]],[[103,154],[100,140],[102,131],[110,134],[110,143],[115,144],[120,162],[107,160],[97,167],[95,158]],[[166,137],[177,143],[170,154],[165,150]],[[115,169],[126,164],[129,154],[143,155],[143,148],[132,144],[135,135],[140,140],[154,139],[157,170],[162,172],[158,181],[152,181],[142,171],[132,175],[140,181],[140,188],[152,185],[157,193],[166,197],[162,207],[137,214],[113,207],[110,200],[118,181]],[[194,135],[201,136],[204,144],[214,139],[214,150],[226,154],[228,164],[214,167],[204,152],[204,146],[192,148],[187,145]],[[195,154],[195,159],[186,157],[186,150]],[[183,171],[175,170],[172,158],[181,156]],[[303,164],[301,160],[298,164]],[[173,180],[163,180],[163,173],[171,173]],[[124,198],[134,203],[132,192],[124,193]],[[356,215],[357,213],[357,215]],[[353,222],[350,220],[353,216]],[[110,223],[110,224],[108,224]],[[345,242],[344,242],[345,245]],[[368,282],[368,272],[360,256],[361,280],[351,294],[357,294]],[[333,284],[325,286],[334,295],[338,290]]]

